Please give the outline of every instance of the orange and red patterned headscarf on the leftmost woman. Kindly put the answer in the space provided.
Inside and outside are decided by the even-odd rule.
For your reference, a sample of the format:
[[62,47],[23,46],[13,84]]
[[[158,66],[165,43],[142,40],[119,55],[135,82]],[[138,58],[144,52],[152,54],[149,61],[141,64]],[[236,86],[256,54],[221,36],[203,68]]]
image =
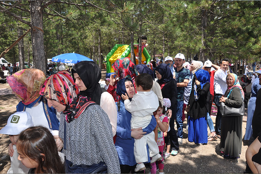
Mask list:
[[22,103],[28,105],[40,97],[39,91],[46,76],[39,69],[23,69],[6,77],[6,80]]

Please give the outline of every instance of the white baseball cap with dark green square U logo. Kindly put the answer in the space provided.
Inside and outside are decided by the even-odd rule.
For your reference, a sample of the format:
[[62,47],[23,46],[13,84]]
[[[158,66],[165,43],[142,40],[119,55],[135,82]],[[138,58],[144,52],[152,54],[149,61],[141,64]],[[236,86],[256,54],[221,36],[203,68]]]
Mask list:
[[32,117],[28,112],[21,111],[12,114],[5,127],[0,130],[1,134],[18,135],[26,128],[34,126]]

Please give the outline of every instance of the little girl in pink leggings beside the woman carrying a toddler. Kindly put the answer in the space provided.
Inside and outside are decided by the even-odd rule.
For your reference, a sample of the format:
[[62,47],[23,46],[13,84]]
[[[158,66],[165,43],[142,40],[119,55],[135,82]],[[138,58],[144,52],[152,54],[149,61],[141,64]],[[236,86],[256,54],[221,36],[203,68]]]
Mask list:
[[[155,119],[157,121],[157,126],[154,130],[155,132],[155,141],[158,144],[159,147],[159,151],[161,153],[161,156],[163,155],[163,148],[164,148],[164,136],[163,133],[167,130],[167,124],[168,124],[168,117],[166,117],[166,115],[162,114],[163,107],[161,105],[161,102],[159,101],[159,107],[157,108],[157,110],[155,112],[153,112],[153,115],[155,116]],[[162,156],[163,157],[163,156]],[[163,168],[164,168],[164,164],[163,164],[163,158],[162,160],[158,161],[158,165],[159,165],[159,169],[160,169],[160,174],[163,174]],[[151,163],[151,173],[156,173],[157,171],[157,167],[155,162]]]

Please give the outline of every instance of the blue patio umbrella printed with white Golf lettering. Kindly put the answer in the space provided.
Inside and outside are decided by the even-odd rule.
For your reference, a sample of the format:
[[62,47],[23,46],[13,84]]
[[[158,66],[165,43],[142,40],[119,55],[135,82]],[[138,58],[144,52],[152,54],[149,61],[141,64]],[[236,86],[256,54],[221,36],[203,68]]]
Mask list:
[[93,61],[92,59],[77,54],[77,53],[65,53],[65,54],[61,54],[58,56],[55,56],[52,58],[53,62],[63,62],[63,63],[72,63],[72,64],[77,64],[80,61]]

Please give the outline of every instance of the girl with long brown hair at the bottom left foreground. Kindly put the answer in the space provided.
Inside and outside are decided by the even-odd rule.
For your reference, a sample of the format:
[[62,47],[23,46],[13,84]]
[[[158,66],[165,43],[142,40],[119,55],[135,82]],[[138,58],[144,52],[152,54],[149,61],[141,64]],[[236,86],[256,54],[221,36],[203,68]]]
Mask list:
[[27,128],[19,134],[16,146],[18,160],[31,168],[28,173],[65,173],[55,139],[47,128]]

